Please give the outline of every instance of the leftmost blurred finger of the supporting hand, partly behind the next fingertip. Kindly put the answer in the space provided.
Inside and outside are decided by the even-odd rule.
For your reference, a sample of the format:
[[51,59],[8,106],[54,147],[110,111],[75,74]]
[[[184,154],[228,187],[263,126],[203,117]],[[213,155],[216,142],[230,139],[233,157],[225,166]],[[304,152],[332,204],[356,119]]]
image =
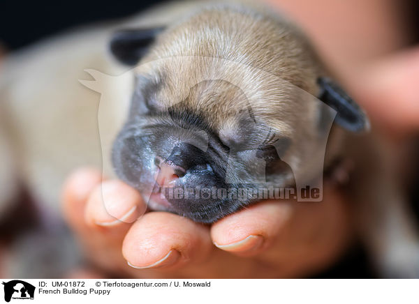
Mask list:
[[91,191],[102,181],[101,172],[96,169],[82,168],[71,174],[62,191],[63,213],[73,229],[83,229],[84,207]]

